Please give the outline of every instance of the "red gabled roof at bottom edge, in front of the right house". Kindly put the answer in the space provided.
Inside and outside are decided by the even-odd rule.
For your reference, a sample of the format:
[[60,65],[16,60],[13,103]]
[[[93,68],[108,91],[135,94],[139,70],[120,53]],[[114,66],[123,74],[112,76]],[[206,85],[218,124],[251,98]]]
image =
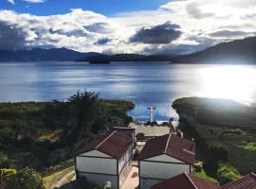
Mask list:
[[183,173],[169,180],[155,184],[151,189],[217,189],[218,186],[210,181]]

